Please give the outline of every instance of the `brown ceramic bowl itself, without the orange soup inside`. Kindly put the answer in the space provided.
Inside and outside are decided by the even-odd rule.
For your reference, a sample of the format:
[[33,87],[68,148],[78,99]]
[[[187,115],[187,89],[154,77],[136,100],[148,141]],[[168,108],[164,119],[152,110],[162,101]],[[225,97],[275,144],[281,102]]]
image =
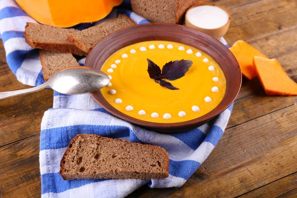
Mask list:
[[89,53],[85,66],[100,69],[105,60],[119,49],[143,41],[173,41],[192,46],[211,56],[222,68],[226,78],[226,93],[223,100],[209,113],[196,119],[178,123],[154,123],[130,117],[112,107],[100,90],[91,96],[109,113],[160,133],[177,133],[194,129],[220,114],[236,98],[242,83],[242,74],[237,60],[231,51],[215,38],[196,29],[182,25],[150,23],[137,25],[114,32],[102,39]]

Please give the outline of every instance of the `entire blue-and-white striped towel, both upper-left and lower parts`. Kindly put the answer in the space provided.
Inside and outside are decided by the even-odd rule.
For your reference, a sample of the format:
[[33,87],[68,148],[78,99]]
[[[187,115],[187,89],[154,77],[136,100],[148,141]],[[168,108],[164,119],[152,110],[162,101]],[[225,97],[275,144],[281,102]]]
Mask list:
[[[129,4],[129,0],[124,3]],[[146,19],[129,10],[114,9],[105,19],[123,12],[136,23]],[[103,20],[96,22],[100,23]],[[0,0],[0,35],[6,60],[17,79],[31,86],[44,83],[37,49],[29,47],[23,31],[26,22],[36,22],[14,0]],[[77,25],[84,29],[94,24]],[[221,40],[225,45],[224,39]],[[84,63],[84,58],[78,60]],[[67,96],[54,93],[53,108],[45,112],[41,124],[40,172],[43,198],[121,198],[142,185],[150,188],[182,186],[206,159],[221,138],[233,105],[197,129],[186,133],[159,134],[145,130],[106,112],[89,94]],[[169,154],[169,177],[161,180],[73,180],[64,181],[59,164],[70,140],[80,133],[97,134],[131,142],[158,145]]]

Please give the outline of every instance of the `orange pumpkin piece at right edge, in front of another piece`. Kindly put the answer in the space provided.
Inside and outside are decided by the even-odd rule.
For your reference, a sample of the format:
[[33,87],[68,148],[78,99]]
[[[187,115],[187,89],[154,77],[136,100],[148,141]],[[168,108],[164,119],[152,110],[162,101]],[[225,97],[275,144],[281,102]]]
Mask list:
[[255,56],[253,65],[267,95],[297,96],[297,83],[287,75],[275,58]]

